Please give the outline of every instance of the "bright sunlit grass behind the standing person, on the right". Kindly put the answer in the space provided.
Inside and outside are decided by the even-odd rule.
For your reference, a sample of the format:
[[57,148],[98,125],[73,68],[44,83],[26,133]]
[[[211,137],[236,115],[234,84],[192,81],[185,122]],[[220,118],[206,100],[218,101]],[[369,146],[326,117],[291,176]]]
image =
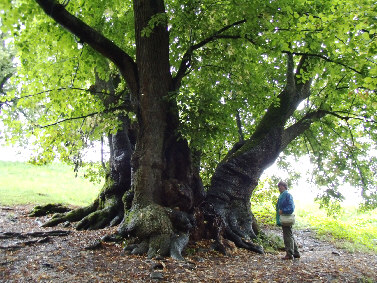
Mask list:
[[[271,199],[252,202],[252,211],[258,221],[276,225],[275,207]],[[349,251],[377,253],[377,209],[367,212],[356,207],[345,207],[336,216],[328,216],[316,203],[296,202],[295,229],[310,228],[318,237],[331,240]]]

